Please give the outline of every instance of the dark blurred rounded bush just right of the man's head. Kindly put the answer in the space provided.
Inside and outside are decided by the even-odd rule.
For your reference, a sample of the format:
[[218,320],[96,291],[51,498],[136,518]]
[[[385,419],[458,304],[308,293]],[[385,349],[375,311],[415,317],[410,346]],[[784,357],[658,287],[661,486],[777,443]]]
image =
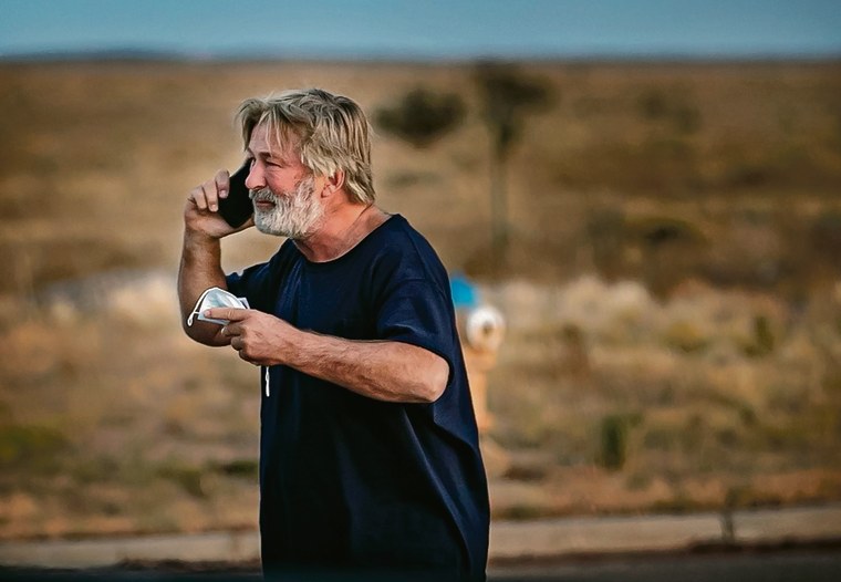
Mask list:
[[411,91],[396,105],[374,113],[374,122],[415,147],[427,147],[465,117],[465,104],[454,93],[435,93],[428,89]]

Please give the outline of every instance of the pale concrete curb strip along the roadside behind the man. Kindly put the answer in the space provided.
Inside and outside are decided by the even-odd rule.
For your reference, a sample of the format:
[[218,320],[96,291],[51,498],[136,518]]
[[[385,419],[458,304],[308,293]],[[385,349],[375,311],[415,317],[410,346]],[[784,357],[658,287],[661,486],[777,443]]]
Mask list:
[[[733,513],[736,543],[841,540],[841,503]],[[720,513],[622,516],[495,521],[490,560],[663,552],[728,541]],[[0,542],[0,565],[100,568],[123,561],[242,562],[259,558],[257,532]]]

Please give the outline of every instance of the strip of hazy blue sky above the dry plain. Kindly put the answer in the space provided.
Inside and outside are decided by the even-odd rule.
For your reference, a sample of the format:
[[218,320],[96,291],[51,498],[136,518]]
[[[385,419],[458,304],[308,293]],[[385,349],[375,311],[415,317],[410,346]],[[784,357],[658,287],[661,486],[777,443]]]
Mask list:
[[0,0],[0,58],[841,56],[841,0]]

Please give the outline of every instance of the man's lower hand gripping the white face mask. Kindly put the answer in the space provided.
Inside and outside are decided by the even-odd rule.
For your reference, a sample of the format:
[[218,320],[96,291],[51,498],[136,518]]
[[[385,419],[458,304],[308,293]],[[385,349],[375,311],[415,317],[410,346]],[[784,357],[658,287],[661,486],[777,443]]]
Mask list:
[[214,308],[205,311],[205,315],[228,320],[219,334],[230,341],[242,360],[260,366],[282,364],[280,354],[298,333],[285,321],[253,309]]

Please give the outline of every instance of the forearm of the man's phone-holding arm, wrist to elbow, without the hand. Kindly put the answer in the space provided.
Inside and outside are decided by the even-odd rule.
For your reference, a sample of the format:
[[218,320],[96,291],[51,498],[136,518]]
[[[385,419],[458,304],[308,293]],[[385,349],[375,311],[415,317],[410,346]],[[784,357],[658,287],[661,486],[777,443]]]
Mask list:
[[181,310],[181,326],[197,342],[208,345],[227,345],[228,340],[219,335],[219,326],[194,318],[188,326],[187,318],[196,301],[211,287],[226,289],[221,269],[221,248],[218,239],[203,235],[184,233],[181,262],[178,269],[178,302]]

